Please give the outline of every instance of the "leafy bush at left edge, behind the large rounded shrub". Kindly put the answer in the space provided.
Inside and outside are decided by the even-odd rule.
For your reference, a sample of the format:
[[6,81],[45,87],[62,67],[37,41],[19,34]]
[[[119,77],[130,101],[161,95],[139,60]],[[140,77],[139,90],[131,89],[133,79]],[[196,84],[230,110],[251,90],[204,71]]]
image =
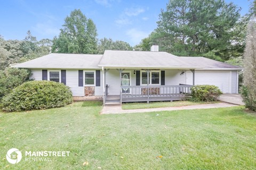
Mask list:
[[0,70],[0,100],[10,94],[12,89],[29,80],[31,72],[27,69],[7,68]]

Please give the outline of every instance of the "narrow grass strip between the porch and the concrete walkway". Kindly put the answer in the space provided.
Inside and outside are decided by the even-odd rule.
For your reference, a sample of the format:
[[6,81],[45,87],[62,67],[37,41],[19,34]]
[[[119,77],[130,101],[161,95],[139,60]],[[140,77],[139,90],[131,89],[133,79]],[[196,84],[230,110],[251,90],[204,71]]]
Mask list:
[[219,101],[205,102],[205,101],[157,101],[147,103],[125,103],[122,105],[122,109],[141,109],[141,108],[158,108],[158,107],[181,107],[191,105],[202,105],[218,103]]

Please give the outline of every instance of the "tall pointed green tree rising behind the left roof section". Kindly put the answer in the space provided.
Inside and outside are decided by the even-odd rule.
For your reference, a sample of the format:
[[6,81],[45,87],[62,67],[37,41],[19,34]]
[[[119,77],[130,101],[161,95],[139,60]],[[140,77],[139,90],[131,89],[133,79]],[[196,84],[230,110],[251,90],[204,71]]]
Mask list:
[[59,37],[54,37],[53,53],[97,53],[97,29],[81,10],[74,10],[65,19]]

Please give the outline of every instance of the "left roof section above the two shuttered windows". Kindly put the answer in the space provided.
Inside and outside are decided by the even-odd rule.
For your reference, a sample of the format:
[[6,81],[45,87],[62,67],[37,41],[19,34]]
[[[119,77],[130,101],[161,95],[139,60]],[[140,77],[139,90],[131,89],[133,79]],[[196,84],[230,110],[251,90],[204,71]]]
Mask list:
[[92,54],[48,54],[34,60],[14,65],[19,68],[47,69],[99,69],[102,55]]

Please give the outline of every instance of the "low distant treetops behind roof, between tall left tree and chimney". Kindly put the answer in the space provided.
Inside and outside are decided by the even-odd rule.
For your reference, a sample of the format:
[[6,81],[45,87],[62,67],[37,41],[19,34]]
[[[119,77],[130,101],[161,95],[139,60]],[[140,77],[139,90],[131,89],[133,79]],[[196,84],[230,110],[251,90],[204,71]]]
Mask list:
[[103,54],[105,50],[132,50],[132,47],[124,41],[113,41],[111,38],[103,38],[100,39],[98,53]]

